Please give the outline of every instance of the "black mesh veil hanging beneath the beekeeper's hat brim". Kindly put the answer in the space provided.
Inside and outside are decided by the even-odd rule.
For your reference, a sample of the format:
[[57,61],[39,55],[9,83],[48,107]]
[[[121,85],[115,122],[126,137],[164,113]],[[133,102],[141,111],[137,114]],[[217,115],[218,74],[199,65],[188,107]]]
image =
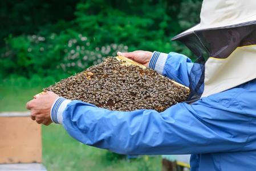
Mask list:
[[206,60],[210,57],[225,59],[238,47],[256,44],[256,21],[197,30],[185,35],[178,35],[172,40],[184,43],[198,57],[189,76],[190,96],[188,101],[193,102],[200,99],[204,90]]

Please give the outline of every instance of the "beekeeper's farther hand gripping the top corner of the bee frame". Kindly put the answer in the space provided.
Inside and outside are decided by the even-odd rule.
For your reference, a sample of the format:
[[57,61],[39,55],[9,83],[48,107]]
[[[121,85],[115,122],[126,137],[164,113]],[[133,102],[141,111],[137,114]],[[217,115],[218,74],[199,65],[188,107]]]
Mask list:
[[149,51],[117,52],[117,55],[132,59],[145,67],[148,67],[152,54]]

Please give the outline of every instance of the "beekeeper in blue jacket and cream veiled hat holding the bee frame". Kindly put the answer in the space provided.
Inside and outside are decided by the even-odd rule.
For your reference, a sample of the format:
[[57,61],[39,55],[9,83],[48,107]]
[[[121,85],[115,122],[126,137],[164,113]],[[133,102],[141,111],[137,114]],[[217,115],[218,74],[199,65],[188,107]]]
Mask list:
[[256,170],[256,1],[205,0],[201,23],[177,35],[197,56],[119,53],[185,86],[164,112],[109,111],[53,92],[27,103],[38,123],[123,154],[192,154],[191,170]]

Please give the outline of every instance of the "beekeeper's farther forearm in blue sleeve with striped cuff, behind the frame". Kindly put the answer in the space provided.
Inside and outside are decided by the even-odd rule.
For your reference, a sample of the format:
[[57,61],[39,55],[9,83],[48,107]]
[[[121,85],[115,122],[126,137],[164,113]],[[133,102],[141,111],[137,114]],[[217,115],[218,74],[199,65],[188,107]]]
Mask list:
[[[149,68],[156,70],[159,74],[167,76],[184,86],[189,87],[189,76],[193,65],[192,60],[182,54],[170,52],[169,54],[153,52],[149,62]],[[196,64],[200,65],[200,64]],[[200,78],[201,73],[193,75],[194,78]]]

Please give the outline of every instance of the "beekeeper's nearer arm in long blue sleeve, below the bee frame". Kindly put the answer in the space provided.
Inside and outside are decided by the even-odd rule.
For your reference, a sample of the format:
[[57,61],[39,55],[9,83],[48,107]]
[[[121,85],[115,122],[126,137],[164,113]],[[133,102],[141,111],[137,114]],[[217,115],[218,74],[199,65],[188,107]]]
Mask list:
[[[225,95],[179,103],[164,112],[109,111],[78,100],[57,99],[51,118],[76,140],[123,154],[193,154],[252,150],[255,129],[238,101]],[[220,101],[218,101],[220,99]],[[234,106],[233,106],[234,105]],[[230,108],[234,108],[230,111]],[[253,149],[255,150],[255,148]]]

